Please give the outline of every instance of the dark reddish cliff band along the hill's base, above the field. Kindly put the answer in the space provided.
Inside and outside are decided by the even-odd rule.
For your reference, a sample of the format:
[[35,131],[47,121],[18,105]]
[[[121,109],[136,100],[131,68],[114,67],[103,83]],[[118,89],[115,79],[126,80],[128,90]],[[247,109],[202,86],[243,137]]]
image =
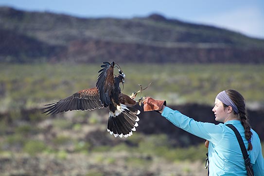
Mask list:
[[[165,46],[164,46],[165,45]],[[75,62],[153,63],[263,63],[264,50],[233,48],[221,44],[126,43],[104,40],[78,40],[56,55],[56,60]]]

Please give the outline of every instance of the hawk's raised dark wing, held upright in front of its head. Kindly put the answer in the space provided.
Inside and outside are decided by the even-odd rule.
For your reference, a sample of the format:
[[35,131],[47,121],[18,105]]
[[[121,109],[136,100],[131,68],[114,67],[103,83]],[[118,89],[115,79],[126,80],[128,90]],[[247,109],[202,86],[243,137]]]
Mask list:
[[96,88],[99,91],[99,99],[101,103],[107,107],[109,104],[112,103],[111,100],[111,93],[114,88],[114,66],[115,63],[112,62],[103,62],[104,65],[101,66],[101,70],[98,72],[100,73],[98,79],[96,81]]

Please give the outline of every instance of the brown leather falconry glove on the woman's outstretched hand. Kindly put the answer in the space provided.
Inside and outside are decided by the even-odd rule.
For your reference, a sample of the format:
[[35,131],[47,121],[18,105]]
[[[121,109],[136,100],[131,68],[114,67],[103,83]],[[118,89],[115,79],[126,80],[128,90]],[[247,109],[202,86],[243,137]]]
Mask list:
[[166,106],[166,101],[165,100],[155,100],[151,97],[146,97],[145,100],[143,101],[143,109],[144,111],[160,111],[162,109],[162,106]]

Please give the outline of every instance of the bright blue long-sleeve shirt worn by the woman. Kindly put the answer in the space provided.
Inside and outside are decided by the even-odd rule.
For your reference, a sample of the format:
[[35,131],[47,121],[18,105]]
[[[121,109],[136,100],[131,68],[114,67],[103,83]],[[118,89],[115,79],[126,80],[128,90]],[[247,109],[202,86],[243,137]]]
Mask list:
[[[177,110],[165,107],[162,114],[177,127],[210,141],[208,148],[210,176],[247,176],[246,166],[235,133],[225,124],[233,124],[248,146],[245,130],[240,121],[228,121],[225,124],[197,122]],[[258,134],[251,129],[253,149],[247,151],[255,176],[264,176],[264,158]]]

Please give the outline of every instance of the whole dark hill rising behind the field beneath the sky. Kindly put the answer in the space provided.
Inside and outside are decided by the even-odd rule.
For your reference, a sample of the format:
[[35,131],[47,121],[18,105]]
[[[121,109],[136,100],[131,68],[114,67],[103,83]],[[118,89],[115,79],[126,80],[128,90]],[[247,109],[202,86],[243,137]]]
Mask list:
[[0,40],[1,62],[264,62],[264,39],[158,14],[76,18],[0,7]]

